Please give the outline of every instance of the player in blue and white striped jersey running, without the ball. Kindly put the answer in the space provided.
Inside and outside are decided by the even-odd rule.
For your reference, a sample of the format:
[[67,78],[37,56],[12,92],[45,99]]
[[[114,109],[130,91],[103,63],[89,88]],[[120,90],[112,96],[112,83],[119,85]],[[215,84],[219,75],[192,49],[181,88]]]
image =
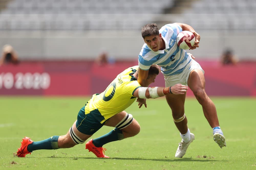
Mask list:
[[[226,146],[226,141],[220,129],[215,105],[205,92],[204,70],[192,59],[191,54],[178,47],[176,38],[181,31],[191,31],[195,35],[195,44],[190,49],[199,47],[200,35],[190,25],[166,24],[159,30],[156,24],[147,24],[142,28],[141,33],[145,44],[138,58],[138,82],[144,86],[148,69],[152,64],[157,64],[161,66],[166,87],[177,83],[188,85],[202,105],[204,115],[213,129],[215,142],[222,148]],[[182,158],[189,144],[195,139],[194,134],[188,129],[184,111],[186,93],[184,95],[168,94],[165,97],[182,138],[175,157]],[[139,101],[141,105],[146,103],[145,99],[139,99]]]

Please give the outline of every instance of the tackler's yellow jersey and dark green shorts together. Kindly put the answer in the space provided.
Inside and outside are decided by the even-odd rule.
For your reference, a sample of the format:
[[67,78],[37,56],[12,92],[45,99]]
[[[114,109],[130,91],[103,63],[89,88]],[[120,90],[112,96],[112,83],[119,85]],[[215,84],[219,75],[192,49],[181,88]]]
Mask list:
[[131,106],[136,97],[134,91],[141,87],[133,74],[138,66],[120,73],[101,94],[94,94],[77,116],[77,129],[91,135],[99,130],[106,120]]

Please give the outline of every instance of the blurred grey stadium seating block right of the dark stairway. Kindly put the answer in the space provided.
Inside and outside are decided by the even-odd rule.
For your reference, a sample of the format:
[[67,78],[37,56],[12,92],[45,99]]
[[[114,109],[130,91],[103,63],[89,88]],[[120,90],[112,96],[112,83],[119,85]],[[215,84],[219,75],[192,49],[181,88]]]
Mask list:
[[255,0],[202,0],[192,3],[182,21],[199,30],[255,30]]

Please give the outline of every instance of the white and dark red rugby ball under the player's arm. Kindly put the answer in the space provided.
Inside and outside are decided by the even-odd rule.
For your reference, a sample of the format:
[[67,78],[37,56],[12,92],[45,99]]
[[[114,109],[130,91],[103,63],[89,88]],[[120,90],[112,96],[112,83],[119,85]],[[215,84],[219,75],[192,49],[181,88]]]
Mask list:
[[189,49],[195,44],[195,35],[190,31],[182,31],[178,34],[176,42],[181,49]]

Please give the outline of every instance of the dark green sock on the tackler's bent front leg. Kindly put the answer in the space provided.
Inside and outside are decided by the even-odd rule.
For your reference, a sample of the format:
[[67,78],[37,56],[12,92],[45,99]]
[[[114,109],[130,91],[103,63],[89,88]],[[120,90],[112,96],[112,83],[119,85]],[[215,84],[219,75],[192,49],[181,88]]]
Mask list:
[[124,139],[123,132],[118,128],[114,128],[109,133],[107,133],[99,138],[93,139],[92,143],[96,147],[102,147],[106,143],[117,141],[117,140],[122,140],[122,139]]

